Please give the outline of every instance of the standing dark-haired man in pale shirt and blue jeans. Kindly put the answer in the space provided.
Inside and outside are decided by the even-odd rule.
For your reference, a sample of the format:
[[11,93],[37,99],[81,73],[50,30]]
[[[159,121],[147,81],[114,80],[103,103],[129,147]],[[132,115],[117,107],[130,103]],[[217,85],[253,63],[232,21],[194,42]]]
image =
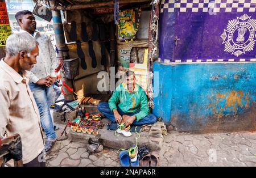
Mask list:
[[38,63],[31,71],[27,71],[30,79],[30,90],[33,92],[38,105],[41,125],[46,132],[47,141],[44,150],[48,152],[55,143],[56,133],[53,129],[53,121],[50,105],[54,104],[55,93],[52,84],[55,82],[55,69],[57,59],[51,40],[47,35],[36,31],[36,21],[32,12],[24,10],[16,13],[15,18],[20,26],[20,32],[29,33],[39,43]]

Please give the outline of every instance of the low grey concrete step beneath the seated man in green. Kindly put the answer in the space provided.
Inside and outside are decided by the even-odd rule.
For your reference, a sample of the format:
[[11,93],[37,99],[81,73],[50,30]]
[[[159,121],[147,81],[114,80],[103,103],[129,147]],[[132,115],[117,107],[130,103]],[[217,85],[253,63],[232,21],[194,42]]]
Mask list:
[[[71,128],[68,128],[71,129]],[[113,149],[129,149],[131,146],[136,144],[136,137],[138,134],[132,132],[131,137],[124,137],[122,134],[115,136],[114,130],[107,130],[107,126],[99,130],[101,134],[101,143],[105,147]],[[95,137],[93,134],[69,132],[73,142],[88,143],[89,138]],[[147,145],[151,151],[159,151],[162,147],[163,137],[155,138],[148,135],[148,132],[141,132],[141,136],[138,139],[138,146]]]

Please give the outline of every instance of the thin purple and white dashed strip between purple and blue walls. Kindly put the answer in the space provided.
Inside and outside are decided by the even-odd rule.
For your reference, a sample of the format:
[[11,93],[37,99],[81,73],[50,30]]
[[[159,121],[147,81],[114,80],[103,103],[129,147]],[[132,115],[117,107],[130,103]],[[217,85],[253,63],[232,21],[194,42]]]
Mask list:
[[[159,58],[160,62],[161,59]],[[190,63],[190,62],[256,62],[256,58],[252,59],[208,59],[208,60],[164,60],[164,63]]]

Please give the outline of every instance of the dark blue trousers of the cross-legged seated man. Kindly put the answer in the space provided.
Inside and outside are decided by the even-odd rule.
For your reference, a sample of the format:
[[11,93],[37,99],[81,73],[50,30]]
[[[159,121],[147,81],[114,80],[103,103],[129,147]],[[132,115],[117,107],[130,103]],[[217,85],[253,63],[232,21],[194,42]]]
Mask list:
[[[98,103],[97,108],[102,114],[104,114],[106,117],[108,117],[112,123],[116,122],[114,113],[112,111],[110,111],[108,102]],[[118,111],[119,115],[121,115],[121,116],[123,116],[123,115],[133,116],[139,112],[138,111],[135,113],[124,113],[119,107],[117,107],[117,111]],[[135,120],[132,125],[154,124],[156,122],[156,120],[157,120],[156,116],[149,113],[146,117],[142,118],[141,120],[139,120],[139,121]]]

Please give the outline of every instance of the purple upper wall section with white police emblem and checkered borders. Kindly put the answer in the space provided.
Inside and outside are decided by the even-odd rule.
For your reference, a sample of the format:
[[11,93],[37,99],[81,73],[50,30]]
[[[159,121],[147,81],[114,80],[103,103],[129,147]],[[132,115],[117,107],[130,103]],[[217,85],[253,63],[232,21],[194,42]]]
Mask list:
[[256,61],[255,9],[256,0],[163,0],[160,61]]

